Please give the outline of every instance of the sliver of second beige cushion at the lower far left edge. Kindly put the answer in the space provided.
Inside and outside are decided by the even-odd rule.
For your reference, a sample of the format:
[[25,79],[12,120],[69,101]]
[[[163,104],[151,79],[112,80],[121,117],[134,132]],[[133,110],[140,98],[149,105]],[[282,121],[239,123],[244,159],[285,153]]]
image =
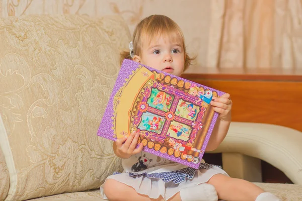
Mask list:
[[[0,134],[1,130],[1,117],[0,117]],[[2,149],[0,148],[0,200],[4,200],[8,194],[10,187],[10,175],[9,170],[5,162],[4,155],[2,153]]]

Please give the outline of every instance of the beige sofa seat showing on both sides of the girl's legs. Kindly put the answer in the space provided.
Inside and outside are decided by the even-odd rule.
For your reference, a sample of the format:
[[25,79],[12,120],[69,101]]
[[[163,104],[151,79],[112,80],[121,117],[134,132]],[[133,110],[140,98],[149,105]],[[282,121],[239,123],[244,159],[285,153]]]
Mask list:
[[[302,186],[294,184],[274,184],[274,183],[255,183],[265,191],[269,191],[279,196],[283,201],[298,201],[302,197]],[[100,190],[87,192],[72,192],[48,197],[32,199],[31,201],[92,201],[103,200],[100,197]]]

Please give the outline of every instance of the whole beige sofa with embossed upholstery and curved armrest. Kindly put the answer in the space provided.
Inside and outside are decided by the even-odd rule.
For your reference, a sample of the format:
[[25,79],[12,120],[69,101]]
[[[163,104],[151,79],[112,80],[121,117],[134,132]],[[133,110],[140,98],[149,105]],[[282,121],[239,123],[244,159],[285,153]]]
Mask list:
[[[0,19],[0,200],[102,200],[100,185],[122,168],[96,133],[129,41],[118,16]],[[216,152],[230,175],[252,181],[252,157],[273,164],[295,184],[257,185],[296,201],[301,142],[288,128],[232,123]]]

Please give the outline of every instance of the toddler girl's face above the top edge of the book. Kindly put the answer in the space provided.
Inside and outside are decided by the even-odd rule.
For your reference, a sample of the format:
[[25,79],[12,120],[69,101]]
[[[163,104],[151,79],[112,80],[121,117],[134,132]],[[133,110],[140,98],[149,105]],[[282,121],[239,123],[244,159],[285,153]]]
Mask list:
[[148,43],[144,40],[141,55],[135,56],[134,61],[146,66],[180,76],[184,70],[185,54],[181,40],[170,41],[164,35]]

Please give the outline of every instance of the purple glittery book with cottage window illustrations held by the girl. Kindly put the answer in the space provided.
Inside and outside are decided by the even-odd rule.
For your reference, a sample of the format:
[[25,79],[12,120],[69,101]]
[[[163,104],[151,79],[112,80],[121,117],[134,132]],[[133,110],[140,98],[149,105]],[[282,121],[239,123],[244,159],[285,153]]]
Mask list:
[[223,93],[125,59],[97,135],[136,130],[143,151],[198,169],[218,117],[209,103]]

